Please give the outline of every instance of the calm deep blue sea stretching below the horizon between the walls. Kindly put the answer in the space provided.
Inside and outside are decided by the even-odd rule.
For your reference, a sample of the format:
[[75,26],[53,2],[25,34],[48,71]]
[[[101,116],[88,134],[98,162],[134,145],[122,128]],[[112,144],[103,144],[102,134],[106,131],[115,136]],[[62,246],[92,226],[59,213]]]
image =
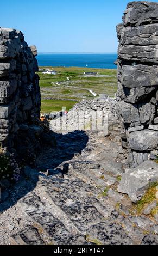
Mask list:
[[78,66],[99,69],[116,69],[117,54],[39,54],[39,66]]

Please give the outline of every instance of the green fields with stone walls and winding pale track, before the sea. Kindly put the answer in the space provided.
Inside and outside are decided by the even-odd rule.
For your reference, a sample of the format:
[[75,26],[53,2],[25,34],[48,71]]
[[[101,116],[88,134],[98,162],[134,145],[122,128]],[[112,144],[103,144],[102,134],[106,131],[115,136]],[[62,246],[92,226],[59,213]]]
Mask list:
[[[62,107],[67,107],[67,110],[69,110],[83,99],[93,99],[94,96],[89,90],[93,90],[97,95],[104,93],[110,97],[113,97],[117,91],[117,70],[115,69],[73,67],[40,67],[40,69],[50,69],[58,72],[57,75],[38,72],[40,76],[42,113],[60,111]],[[101,77],[83,75],[84,72],[91,71],[98,72]]]

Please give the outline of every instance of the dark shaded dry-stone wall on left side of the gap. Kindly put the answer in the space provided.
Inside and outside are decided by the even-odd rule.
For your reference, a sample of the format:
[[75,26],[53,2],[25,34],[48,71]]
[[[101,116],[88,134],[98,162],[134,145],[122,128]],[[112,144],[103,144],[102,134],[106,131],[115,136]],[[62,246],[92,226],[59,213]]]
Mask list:
[[0,150],[14,147],[22,125],[40,117],[40,88],[35,46],[22,32],[0,28]]

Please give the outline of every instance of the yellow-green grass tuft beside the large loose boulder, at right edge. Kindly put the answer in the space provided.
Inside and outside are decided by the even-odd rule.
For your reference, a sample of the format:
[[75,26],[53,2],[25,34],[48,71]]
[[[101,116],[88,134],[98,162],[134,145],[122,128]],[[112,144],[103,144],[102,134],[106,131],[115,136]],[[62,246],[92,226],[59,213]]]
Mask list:
[[156,200],[156,187],[158,186],[158,182],[151,184],[149,190],[144,194],[142,199],[136,204],[136,209],[138,214],[141,214],[144,208]]

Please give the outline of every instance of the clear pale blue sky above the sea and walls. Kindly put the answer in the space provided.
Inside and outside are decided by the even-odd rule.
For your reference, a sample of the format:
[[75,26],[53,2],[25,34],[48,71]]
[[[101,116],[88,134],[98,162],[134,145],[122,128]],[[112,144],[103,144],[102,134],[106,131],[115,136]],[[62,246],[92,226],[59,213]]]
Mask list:
[[1,2],[0,26],[21,30],[39,52],[117,52],[115,27],[128,2],[7,0]]

